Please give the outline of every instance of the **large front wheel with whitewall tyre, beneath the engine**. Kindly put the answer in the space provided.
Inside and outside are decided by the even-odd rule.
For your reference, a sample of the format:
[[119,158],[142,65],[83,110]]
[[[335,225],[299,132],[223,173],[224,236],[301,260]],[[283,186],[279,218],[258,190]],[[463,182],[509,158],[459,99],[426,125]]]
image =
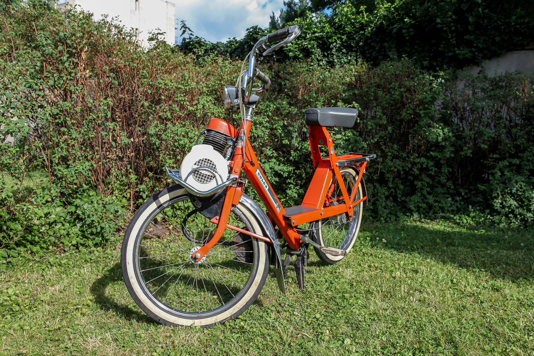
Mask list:
[[[228,224],[262,234],[241,204]],[[152,196],[133,216],[122,243],[122,274],[133,300],[152,319],[209,327],[238,317],[260,294],[269,270],[264,241],[226,229],[205,258],[192,257],[215,228],[179,185]]]

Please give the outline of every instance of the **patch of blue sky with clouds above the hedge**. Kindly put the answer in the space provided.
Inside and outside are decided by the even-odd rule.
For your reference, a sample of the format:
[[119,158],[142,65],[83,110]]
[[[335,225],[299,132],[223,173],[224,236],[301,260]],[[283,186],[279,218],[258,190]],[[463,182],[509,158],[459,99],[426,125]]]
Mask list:
[[240,38],[250,26],[267,27],[283,5],[283,0],[175,0],[175,14],[195,35],[217,42]]

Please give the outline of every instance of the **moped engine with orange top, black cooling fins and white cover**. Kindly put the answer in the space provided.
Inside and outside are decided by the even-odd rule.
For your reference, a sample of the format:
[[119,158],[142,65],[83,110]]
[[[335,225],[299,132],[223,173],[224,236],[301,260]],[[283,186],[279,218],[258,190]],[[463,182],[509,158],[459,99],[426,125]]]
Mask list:
[[194,145],[180,165],[180,178],[199,191],[207,191],[230,176],[227,160],[232,156],[237,130],[224,120],[212,118],[202,133],[202,144]]

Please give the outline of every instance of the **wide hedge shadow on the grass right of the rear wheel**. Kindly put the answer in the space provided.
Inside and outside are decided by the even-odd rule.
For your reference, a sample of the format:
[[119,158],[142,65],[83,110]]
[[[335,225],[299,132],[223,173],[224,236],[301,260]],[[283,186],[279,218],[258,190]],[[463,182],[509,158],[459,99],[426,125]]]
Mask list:
[[[360,244],[417,253],[444,264],[490,273],[494,278],[534,280],[534,231],[461,227],[446,223],[364,226]],[[386,240],[386,242],[383,242]]]

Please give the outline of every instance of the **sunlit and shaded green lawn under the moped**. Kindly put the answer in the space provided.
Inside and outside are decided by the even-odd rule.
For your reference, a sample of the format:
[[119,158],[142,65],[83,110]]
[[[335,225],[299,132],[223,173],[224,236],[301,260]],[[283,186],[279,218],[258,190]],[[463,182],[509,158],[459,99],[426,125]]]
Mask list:
[[211,329],[146,317],[119,244],[29,257],[2,273],[0,355],[534,355],[533,243],[520,228],[364,225],[343,262],[311,252],[307,289],[289,267],[281,295],[271,272],[239,319]]

